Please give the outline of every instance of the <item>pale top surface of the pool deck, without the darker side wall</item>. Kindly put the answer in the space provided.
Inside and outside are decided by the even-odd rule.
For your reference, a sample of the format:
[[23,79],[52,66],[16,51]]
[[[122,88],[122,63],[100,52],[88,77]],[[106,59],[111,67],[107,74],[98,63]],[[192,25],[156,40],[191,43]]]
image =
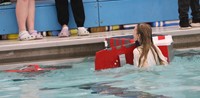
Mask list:
[[[2,40],[0,41],[0,51],[101,43],[105,38],[128,36],[132,35],[132,32],[133,29],[91,33],[89,36],[71,36],[66,38],[45,37],[42,40],[32,41]],[[200,34],[200,28],[179,30],[177,26],[155,27],[153,28],[153,34],[172,35],[173,37],[198,35]]]

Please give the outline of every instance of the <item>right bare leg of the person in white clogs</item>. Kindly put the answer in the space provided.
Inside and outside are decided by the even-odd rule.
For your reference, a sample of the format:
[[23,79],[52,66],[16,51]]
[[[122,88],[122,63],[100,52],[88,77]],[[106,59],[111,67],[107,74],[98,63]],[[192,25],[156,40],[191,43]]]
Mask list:
[[28,2],[28,18],[27,18],[27,26],[28,31],[34,31],[35,25],[35,0],[29,0]]

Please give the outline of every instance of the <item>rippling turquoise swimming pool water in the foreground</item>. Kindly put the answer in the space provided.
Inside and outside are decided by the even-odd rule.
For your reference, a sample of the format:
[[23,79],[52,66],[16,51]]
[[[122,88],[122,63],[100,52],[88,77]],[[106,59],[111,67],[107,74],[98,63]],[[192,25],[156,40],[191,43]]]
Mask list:
[[[179,52],[167,67],[94,71],[94,59],[44,73],[0,73],[0,98],[199,98],[200,51]],[[70,65],[70,64],[69,64]]]

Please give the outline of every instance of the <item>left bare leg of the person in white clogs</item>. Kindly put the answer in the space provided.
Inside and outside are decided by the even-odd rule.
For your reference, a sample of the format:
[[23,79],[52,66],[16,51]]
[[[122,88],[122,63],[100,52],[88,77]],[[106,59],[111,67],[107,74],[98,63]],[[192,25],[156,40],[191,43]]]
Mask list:
[[17,0],[16,17],[19,32],[26,31],[26,20],[28,17],[28,1],[29,0]]

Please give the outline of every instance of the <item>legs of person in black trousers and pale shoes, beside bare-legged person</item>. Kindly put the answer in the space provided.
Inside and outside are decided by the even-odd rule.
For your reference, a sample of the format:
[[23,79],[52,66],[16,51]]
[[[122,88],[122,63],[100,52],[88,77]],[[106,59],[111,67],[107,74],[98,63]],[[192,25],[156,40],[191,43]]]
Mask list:
[[[69,7],[68,0],[55,0],[58,22],[62,26],[59,37],[69,37],[70,32],[68,28],[69,23]],[[78,29],[79,36],[89,35],[89,32],[84,27],[85,12],[82,0],[70,0],[72,12]]]

